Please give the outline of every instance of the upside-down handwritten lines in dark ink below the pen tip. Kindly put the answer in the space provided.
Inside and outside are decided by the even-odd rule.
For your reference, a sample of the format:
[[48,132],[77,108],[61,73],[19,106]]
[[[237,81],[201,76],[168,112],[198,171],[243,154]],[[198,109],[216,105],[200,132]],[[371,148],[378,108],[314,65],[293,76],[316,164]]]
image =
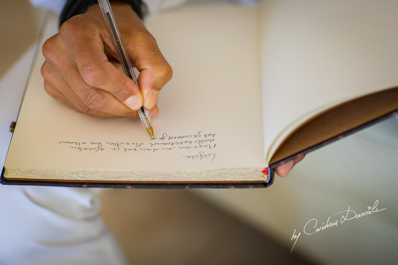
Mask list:
[[167,152],[173,150],[186,150],[181,156],[183,159],[192,161],[213,162],[215,154],[215,133],[204,133],[198,131],[187,135],[168,135],[163,133],[162,137],[149,139],[148,142],[139,141],[59,141],[58,145],[73,149],[78,153],[103,153],[103,152]]

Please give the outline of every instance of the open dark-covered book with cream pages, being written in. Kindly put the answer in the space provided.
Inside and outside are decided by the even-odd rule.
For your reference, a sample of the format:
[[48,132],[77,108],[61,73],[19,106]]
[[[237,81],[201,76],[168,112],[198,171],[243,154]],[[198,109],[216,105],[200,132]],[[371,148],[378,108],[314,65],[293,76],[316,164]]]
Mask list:
[[160,14],[147,27],[174,76],[154,140],[138,119],[92,118],[52,99],[39,49],[2,183],[268,186],[279,164],[398,113],[396,10],[265,0]]

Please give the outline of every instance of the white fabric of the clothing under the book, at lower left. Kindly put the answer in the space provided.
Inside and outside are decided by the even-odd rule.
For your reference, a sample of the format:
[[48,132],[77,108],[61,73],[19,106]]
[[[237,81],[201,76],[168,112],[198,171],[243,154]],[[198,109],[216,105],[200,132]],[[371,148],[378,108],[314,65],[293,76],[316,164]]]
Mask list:
[[[31,46],[0,80],[2,165],[34,51]],[[101,220],[100,191],[0,185],[0,265],[127,264]]]

